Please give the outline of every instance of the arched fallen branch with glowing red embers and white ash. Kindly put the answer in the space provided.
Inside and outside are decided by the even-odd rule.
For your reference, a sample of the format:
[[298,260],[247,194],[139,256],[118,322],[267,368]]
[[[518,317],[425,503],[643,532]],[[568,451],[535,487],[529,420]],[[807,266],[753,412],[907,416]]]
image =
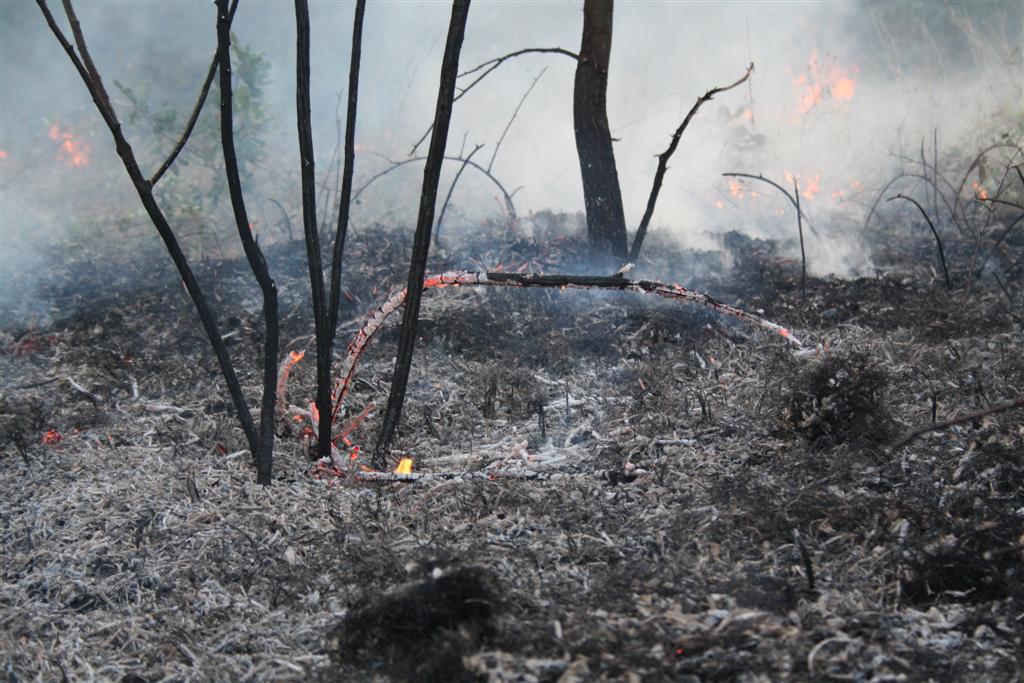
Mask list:
[[[647,280],[627,280],[620,275],[610,278],[598,275],[541,275],[536,273],[515,273],[515,272],[467,272],[453,271],[437,275],[430,275],[423,282],[423,288],[443,289],[445,287],[557,287],[559,289],[614,289],[630,292],[653,293],[669,299],[680,299],[692,303],[707,306],[725,315],[738,317],[751,325],[764,328],[783,337],[795,346],[802,346],[800,340],[793,333],[780,325],[767,321],[754,313],[749,313],[741,308],[730,306],[714,299],[702,292],[688,290],[680,285],[669,285],[666,283]],[[355,366],[366,351],[370,340],[384,325],[387,316],[401,307],[406,302],[406,290],[402,289],[388,297],[387,301],[381,304],[362,325],[355,337],[348,345],[348,351],[341,366],[341,377],[335,384],[332,393],[334,404],[333,418],[336,418],[338,411],[345,402],[345,396],[355,376]]]

